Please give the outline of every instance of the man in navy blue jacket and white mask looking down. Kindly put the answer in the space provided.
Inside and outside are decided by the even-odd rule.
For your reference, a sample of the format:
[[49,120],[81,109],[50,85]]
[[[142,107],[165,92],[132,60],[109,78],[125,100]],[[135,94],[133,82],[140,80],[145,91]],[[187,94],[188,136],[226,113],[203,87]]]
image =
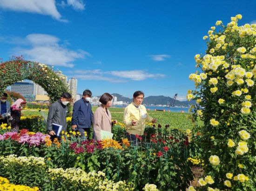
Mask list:
[[84,132],[89,134],[89,128],[93,121],[93,111],[90,104],[91,96],[92,92],[89,89],[84,90],[82,99],[76,101],[73,107],[71,121],[72,129],[77,129],[80,132],[82,139],[87,138]]

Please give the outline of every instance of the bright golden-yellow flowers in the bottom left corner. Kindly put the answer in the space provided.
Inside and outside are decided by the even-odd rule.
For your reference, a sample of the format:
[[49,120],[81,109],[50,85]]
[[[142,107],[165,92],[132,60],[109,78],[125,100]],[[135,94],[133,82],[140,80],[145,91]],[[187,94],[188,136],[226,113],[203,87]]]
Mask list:
[[29,187],[25,185],[13,185],[7,178],[0,177],[0,191],[39,191],[38,187]]

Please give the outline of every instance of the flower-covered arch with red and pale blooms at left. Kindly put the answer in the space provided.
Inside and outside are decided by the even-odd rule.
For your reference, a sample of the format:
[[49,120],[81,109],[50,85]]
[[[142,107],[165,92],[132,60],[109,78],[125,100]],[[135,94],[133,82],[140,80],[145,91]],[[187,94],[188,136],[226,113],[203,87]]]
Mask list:
[[57,101],[63,92],[68,92],[67,84],[45,64],[23,60],[22,57],[0,64],[0,95],[7,86],[20,80],[32,80],[45,89],[50,101]]

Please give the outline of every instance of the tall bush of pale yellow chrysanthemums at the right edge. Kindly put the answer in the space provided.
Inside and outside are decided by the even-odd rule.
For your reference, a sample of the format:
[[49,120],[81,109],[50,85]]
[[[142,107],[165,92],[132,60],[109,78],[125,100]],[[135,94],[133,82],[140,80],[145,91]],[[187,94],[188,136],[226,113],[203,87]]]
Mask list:
[[200,100],[192,116],[204,121],[195,127],[205,164],[199,190],[256,188],[256,24],[238,26],[239,19],[211,27],[206,54],[195,55],[189,75],[195,90],[187,98]]

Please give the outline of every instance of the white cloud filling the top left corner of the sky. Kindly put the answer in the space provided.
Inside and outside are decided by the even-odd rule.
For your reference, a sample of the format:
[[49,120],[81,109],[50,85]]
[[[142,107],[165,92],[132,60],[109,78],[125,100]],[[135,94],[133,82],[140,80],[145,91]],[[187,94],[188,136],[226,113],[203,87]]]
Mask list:
[[54,19],[67,22],[67,20],[61,19],[55,0],[0,0],[0,7],[18,12],[50,15]]

